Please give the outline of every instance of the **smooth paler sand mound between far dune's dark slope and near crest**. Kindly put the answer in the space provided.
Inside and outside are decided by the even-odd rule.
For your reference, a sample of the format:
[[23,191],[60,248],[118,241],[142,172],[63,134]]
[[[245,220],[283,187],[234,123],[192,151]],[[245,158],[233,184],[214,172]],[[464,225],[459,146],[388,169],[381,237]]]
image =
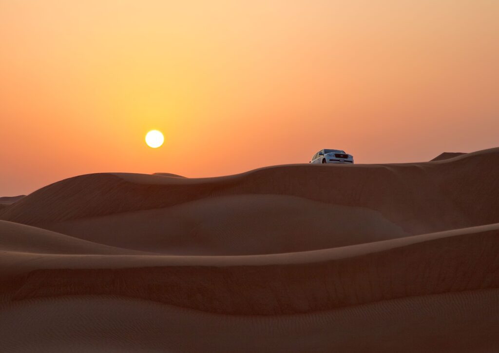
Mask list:
[[42,226],[93,242],[172,255],[299,252],[408,235],[377,211],[286,195],[212,197]]

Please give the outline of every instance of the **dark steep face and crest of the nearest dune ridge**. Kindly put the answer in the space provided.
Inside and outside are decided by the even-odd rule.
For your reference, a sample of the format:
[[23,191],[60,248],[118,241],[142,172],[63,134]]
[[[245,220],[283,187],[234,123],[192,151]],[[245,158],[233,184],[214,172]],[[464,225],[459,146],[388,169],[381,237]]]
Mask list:
[[[17,267],[21,274],[10,273],[1,287],[14,300],[119,295],[231,315],[308,313],[499,288],[498,225],[477,228],[389,240],[381,242],[383,250],[372,243],[376,252],[369,244],[348,247],[364,253],[330,249],[329,259],[320,257],[325,251],[238,257],[7,253],[0,268]],[[419,242],[400,246],[411,238]],[[399,247],[390,248],[392,242]],[[342,252],[350,257],[338,256]],[[308,262],[294,262],[300,256]],[[269,258],[283,263],[269,264]]]

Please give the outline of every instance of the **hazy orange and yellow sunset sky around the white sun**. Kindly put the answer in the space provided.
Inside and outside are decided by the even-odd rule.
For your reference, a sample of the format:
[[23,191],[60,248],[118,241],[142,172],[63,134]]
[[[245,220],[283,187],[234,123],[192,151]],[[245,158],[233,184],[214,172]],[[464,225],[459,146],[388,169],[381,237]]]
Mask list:
[[496,0],[0,0],[0,196],[499,146],[498,18]]

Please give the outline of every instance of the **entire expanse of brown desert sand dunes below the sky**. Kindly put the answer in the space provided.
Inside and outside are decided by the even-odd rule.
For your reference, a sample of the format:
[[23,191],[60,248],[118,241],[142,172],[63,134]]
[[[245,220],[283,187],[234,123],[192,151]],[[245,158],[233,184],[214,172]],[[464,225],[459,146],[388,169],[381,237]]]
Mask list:
[[499,148],[100,173],[0,208],[2,352],[499,351]]

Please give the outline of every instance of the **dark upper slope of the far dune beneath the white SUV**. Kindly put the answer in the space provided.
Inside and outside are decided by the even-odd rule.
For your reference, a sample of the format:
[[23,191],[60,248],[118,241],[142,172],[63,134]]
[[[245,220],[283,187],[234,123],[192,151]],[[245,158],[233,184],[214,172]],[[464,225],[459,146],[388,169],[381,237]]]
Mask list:
[[0,218],[39,225],[214,196],[275,194],[372,209],[422,234],[499,222],[497,174],[499,148],[426,163],[283,165],[205,179],[90,174],[35,191]]

